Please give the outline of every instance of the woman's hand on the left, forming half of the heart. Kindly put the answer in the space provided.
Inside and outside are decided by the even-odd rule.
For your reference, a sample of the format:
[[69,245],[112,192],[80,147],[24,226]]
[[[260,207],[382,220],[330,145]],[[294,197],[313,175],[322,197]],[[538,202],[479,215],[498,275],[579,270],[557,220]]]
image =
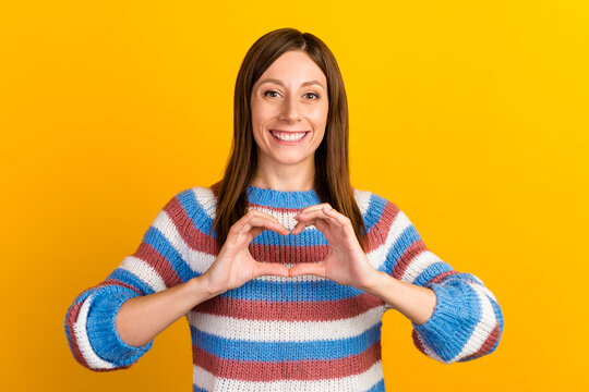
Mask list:
[[288,235],[290,231],[269,213],[250,210],[238,220],[227,235],[216,260],[201,277],[212,295],[237,289],[261,275],[288,277],[288,268],[275,262],[259,262],[250,254],[249,245],[264,230]]

